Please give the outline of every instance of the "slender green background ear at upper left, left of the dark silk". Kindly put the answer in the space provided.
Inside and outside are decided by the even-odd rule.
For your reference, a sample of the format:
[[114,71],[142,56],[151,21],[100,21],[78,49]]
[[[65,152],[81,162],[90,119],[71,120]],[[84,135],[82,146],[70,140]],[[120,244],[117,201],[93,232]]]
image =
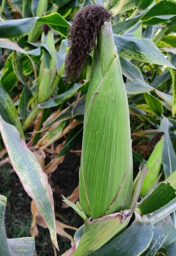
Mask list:
[[56,75],[56,56],[53,31],[49,30],[47,35],[42,34],[42,45],[45,46],[38,75],[38,103],[49,98],[51,85]]

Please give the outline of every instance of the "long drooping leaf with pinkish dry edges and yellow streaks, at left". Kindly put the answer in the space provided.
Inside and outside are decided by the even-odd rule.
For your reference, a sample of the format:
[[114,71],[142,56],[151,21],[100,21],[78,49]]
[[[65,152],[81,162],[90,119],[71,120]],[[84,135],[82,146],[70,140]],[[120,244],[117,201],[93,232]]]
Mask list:
[[20,138],[18,130],[11,124],[6,123],[1,116],[0,132],[13,169],[20,178],[25,191],[34,200],[38,211],[47,223],[53,244],[58,249],[54,203],[52,190],[48,184],[48,177],[41,169],[36,157]]

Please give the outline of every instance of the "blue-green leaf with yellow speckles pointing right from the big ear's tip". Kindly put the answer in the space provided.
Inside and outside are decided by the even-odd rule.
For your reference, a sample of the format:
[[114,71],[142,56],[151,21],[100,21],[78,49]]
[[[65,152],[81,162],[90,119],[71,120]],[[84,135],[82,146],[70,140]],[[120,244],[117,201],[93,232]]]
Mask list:
[[114,41],[121,57],[175,69],[150,39],[114,35]]

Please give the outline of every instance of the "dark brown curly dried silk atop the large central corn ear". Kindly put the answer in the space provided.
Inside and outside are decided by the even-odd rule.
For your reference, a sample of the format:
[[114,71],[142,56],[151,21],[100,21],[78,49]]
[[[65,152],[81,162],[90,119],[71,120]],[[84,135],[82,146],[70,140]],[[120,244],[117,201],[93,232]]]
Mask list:
[[112,17],[111,12],[98,5],[88,5],[74,17],[67,35],[70,46],[65,59],[67,81],[74,81],[78,78],[82,66],[94,47],[100,28]]

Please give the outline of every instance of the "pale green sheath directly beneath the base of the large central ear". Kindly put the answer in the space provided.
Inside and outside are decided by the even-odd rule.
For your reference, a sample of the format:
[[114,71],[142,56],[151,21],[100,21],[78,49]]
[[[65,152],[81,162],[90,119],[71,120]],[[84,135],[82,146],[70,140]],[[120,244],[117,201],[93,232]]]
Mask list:
[[116,234],[121,233],[127,227],[131,214],[128,216],[127,213],[125,218],[124,216],[123,213],[112,213],[92,221],[87,219],[74,256],[86,256],[99,249]]

